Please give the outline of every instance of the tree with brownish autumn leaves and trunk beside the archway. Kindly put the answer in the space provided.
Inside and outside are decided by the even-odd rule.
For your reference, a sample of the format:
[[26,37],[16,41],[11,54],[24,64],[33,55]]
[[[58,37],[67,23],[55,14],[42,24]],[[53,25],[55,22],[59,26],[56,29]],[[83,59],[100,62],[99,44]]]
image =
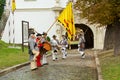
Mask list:
[[77,0],[75,9],[91,24],[112,25],[116,30],[114,54],[120,54],[120,0]]

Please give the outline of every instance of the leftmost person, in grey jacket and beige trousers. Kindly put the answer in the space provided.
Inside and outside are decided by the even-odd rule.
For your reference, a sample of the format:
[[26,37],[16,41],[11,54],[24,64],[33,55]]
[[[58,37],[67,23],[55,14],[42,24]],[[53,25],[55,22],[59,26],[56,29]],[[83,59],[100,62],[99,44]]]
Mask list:
[[30,54],[30,67],[31,70],[35,70],[37,69],[36,57],[39,55],[39,51],[36,44],[36,38],[34,32],[30,34],[28,43],[29,43],[29,54]]

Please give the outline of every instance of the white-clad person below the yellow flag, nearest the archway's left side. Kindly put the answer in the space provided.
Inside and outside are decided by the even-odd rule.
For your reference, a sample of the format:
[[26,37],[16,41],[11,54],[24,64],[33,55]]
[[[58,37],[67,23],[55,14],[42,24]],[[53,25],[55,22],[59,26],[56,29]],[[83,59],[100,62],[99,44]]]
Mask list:
[[67,57],[66,48],[68,47],[68,42],[65,35],[62,35],[62,40],[60,41],[60,45],[61,45],[61,52],[63,54],[62,58],[65,59]]

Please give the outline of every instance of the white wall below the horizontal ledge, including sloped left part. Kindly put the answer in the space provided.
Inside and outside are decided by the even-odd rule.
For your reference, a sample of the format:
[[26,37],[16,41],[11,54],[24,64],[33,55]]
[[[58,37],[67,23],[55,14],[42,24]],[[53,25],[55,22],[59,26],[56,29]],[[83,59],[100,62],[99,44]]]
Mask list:
[[[55,21],[55,13],[53,11],[34,11],[34,12],[15,12],[14,14],[14,25],[13,25],[13,15],[9,16],[7,21],[2,40],[5,42],[13,43],[22,43],[22,20],[29,22],[29,28],[34,28],[37,32],[43,33],[46,32],[50,26]],[[10,25],[9,25],[10,21]],[[56,25],[54,25],[48,32],[48,36],[56,34]],[[13,33],[13,30],[15,32]],[[9,36],[10,31],[10,36]],[[15,36],[15,38],[14,38]]]

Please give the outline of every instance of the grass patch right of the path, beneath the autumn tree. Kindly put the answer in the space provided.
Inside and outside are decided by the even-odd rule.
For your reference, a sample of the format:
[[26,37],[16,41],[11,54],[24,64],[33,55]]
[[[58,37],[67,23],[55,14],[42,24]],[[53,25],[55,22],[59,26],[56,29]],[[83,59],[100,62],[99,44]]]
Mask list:
[[103,80],[120,80],[120,56],[113,56],[113,51],[99,55]]

